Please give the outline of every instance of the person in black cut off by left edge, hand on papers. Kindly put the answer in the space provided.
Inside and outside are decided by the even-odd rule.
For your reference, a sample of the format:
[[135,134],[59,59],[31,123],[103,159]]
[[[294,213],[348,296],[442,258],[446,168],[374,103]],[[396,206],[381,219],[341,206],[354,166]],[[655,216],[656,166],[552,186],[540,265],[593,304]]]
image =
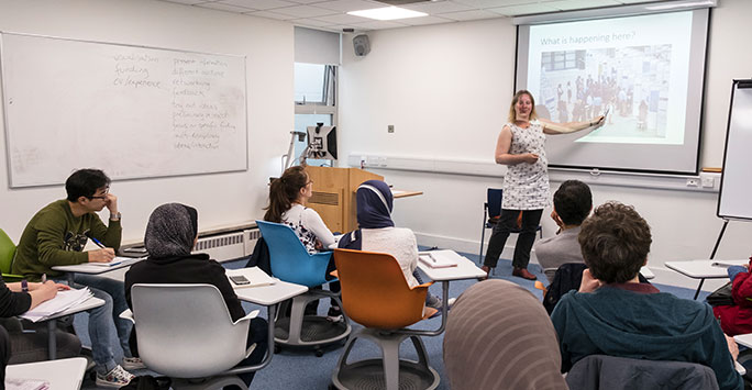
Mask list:
[[[0,277],[0,319],[20,315],[36,308],[40,303],[55,298],[58,289],[69,290],[70,288],[52,280],[44,283],[25,281],[5,283]],[[9,324],[15,324],[15,326],[10,327]],[[43,326],[34,326],[34,333],[26,333],[20,327],[18,320],[2,321],[0,332],[3,333],[7,342],[0,349],[0,383],[4,378],[7,364],[40,361],[48,358],[47,324],[41,325]],[[56,331],[56,339],[58,358],[75,357],[81,350],[81,343],[74,334]]]

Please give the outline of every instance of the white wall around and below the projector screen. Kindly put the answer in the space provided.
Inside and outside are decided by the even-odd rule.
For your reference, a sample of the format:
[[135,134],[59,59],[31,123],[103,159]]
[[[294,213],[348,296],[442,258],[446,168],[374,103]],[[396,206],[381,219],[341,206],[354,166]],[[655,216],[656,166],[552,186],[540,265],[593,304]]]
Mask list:
[[[752,53],[738,45],[740,37],[752,34],[752,25],[744,19],[750,13],[752,2],[745,0],[723,0],[712,11],[701,166],[721,166],[731,80],[752,76]],[[493,161],[513,92],[516,27],[511,20],[376,31],[368,36],[372,51],[365,57],[354,56],[352,36],[343,40],[341,154],[427,159],[462,156]],[[395,133],[387,133],[388,124],[395,125]],[[500,186],[501,174],[375,171],[396,188],[425,192],[395,203],[397,224],[413,229],[420,244],[449,244],[477,253],[486,188]],[[552,182],[553,190],[557,186]],[[657,282],[697,286],[695,280],[665,270],[663,263],[709,256],[722,223],[716,218],[717,193],[613,186],[594,186],[593,191],[596,203],[619,200],[633,204],[651,224],[649,265]],[[549,212],[544,212],[544,236],[555,231]],[[717,258],[749,257],[750,236],[752,224],[732,222]],[[512,246],[512,239],[508,241],[508,258]],[[709,282],[706,289],[716,286]]]

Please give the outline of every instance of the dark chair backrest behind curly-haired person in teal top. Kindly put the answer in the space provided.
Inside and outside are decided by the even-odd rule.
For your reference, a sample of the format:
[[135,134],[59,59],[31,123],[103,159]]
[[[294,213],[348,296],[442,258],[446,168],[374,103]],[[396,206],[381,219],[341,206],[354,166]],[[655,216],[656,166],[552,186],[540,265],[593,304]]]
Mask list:
[[571,389],[707,389],[717,390],[708,366],[686,361],[643,360],[590,355],[577,361],[566,382]]

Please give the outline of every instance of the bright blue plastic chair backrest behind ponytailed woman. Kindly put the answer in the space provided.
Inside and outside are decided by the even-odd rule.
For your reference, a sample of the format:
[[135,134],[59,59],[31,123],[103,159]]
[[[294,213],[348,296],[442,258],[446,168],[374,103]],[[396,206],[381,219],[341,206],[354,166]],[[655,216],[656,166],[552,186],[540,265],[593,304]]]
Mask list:
[[311,255],[292,229],[281,223],[256,221],[269,248],[272,274],[290,283],[314,287],[325,283],[331,252]]

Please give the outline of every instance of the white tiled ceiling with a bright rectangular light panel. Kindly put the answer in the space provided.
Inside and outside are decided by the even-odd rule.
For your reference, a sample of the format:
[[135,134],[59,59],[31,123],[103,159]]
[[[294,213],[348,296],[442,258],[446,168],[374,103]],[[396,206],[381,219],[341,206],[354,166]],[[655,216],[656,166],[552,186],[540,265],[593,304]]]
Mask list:
[[533,13],[659,2],[660,0],[436,0],[403,5],[429,16],[376,21],[349,11],[387,7],[375,0],[163,0],[191,7],[288,21],[295,25],[342,32],[396,29],[410,25],[518,16]]

